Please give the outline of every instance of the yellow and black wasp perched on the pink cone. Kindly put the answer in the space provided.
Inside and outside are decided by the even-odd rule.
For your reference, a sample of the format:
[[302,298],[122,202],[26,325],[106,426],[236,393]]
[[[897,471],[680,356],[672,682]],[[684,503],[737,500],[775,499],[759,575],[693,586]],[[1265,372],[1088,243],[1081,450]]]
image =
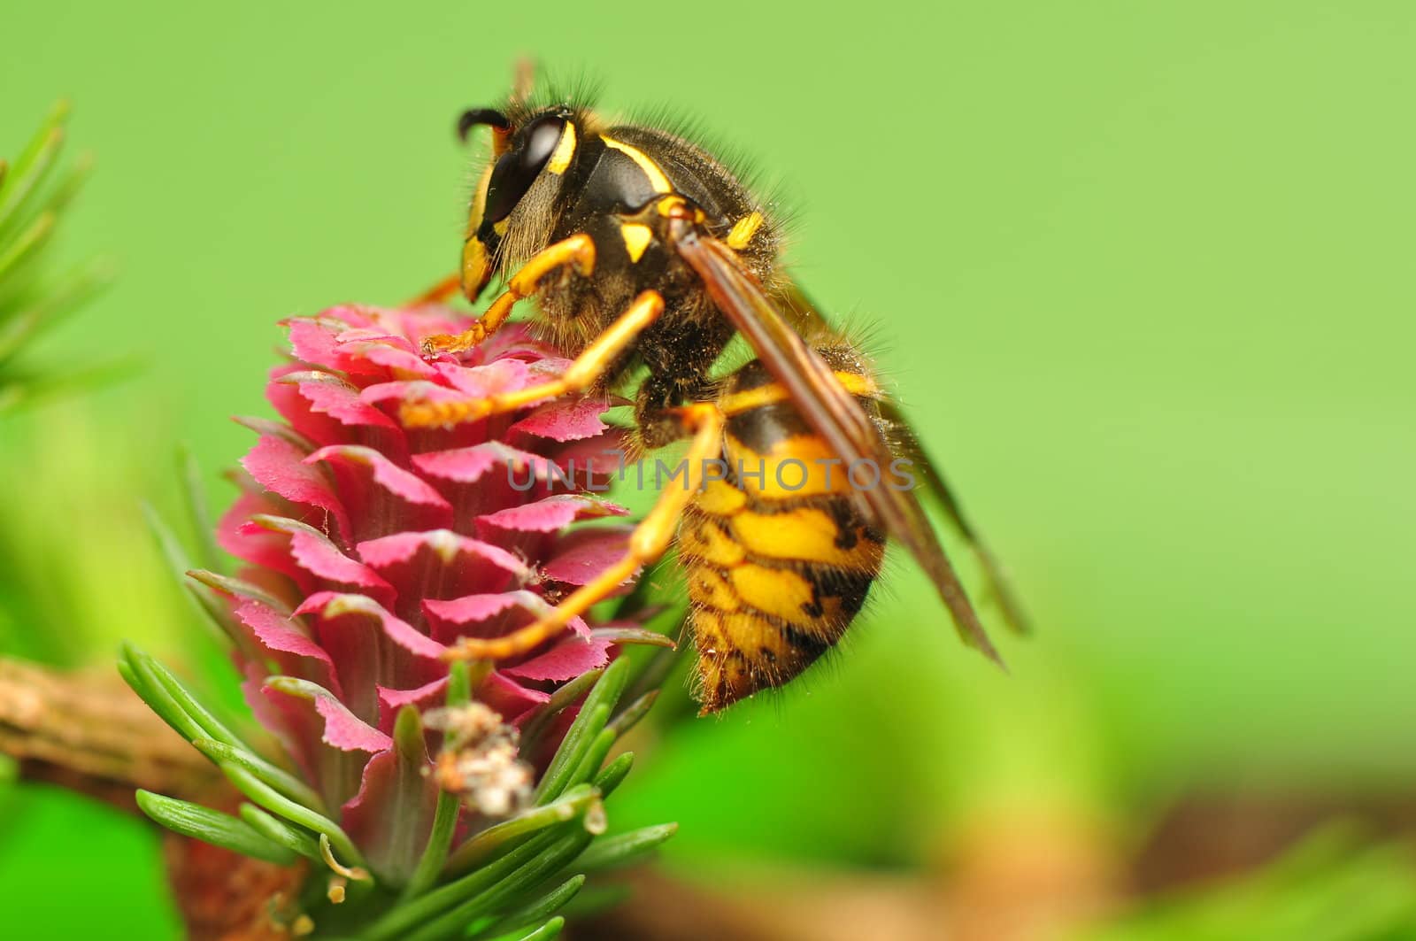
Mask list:
[[[684,486],[667,486],[623,558],[539,621],[503,638],[464,638],[450,656],[531,650],[677,544],[690,592],[702,714],[782,686],[830,649],[881,571],[886,537],[919,561],[963,639],[998,660],[916,489],[886,476],[915,462],[933,499],[983,563],[1008,621],[1022,615],[993,557],[865,356],[826,325],[780,262],[782,228],[724,162],[660,126],[610,123],[572,99],[462,115],[463,140],[491,133],[472,198],[460,288],[504,291],[429,357],[473,349],[535,299],[544,333],[573,354],[559,377],[484,398],[404,405],[409,427],[477,421],[555,397],[633,390],[639,444],[688,441]],[[735,336],[756,359],[719,377]],[[637,380],[637,383],[636,383]],[[834,473],[833,473],[834,472]]]

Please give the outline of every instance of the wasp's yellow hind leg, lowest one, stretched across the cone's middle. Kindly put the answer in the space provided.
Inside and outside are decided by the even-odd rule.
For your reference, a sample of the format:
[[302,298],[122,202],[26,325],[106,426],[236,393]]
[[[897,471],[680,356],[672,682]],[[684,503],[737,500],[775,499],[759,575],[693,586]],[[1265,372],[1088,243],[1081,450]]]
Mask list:
[[503,660],[525,653],[565,629],[565,625],[595,604],[607,598],[624,584],[636,570],[658,560],[668,548],[684,510],[704,485],[705,465],[722,453],[722,428],[726,421],[712,402],[697,402],[674,410],[685,434],[692,435],[684,455],[687,473],[680,490],[668,486],[654,509],[634,527],[629,550],[595,581],[578,588],[547,616],[503,638],[463,638],[443,653],[449,660]]

